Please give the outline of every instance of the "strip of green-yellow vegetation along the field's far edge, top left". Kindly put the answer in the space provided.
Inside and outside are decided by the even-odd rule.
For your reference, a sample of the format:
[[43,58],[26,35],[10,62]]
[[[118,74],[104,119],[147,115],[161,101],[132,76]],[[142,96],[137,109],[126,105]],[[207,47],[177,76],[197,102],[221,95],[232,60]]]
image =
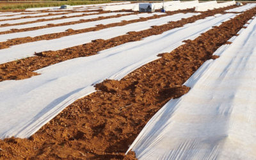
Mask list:
[[1,2],[0,10],[15,10],[15,9],[26,9],[26,8],[38,8],[38,7],[49,7],[49,6],[61,6],[63,4],[67,5],[84,5],[84,4],[100,4],[100,3],[110,3],[111,0],[100,0],[100,1],[49,1],[49,2]]

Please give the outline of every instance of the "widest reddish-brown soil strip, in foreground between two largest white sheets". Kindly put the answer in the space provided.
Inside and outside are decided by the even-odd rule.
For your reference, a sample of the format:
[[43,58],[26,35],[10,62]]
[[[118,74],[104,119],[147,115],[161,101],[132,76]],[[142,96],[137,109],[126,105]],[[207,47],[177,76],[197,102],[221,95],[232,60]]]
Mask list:
[[256,8],[212,28],[195,40],[138,68],[121,81],[97,84],[98,92],[76,100],[29,139],[0,141],[1,159],[129,159],[129,145],[182,84],[256,13]]

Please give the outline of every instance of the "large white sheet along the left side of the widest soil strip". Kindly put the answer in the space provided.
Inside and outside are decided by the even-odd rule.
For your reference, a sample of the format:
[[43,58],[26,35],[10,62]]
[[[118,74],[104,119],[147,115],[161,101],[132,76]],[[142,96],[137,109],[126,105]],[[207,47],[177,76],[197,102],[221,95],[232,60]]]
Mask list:
[[184,44],[183,40],[220,25],[230,15],[234,14],[207,17],[94,56],[63,61],[37,70],[40,75],[29,79],[1,82],[0,138],[28,138],[76,99],[95,92],[94,84],[106,78],[121,79],[159,58],[157,54],[170,52]]

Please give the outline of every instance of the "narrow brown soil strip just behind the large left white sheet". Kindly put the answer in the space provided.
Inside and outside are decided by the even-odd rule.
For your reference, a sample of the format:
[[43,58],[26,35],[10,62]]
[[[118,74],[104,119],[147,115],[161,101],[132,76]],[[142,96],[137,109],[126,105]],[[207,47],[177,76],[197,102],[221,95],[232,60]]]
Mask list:
[[33,71],[40,68],[59,63],[61,61],[70,60],[72,58],[91,56],[104,49],[115,47],[116,45],[121,45],[127,42],[141,40],[141,38],[145,38],[150,35],[159,35],[164,31],[181,27],[184,24],[195,22],[195,20],[198,19],[204,19],[205,17],[214,15],[216,13],[221,13],[223,10],[227,10],[227,8],[202,13],[201,15],[196,15],[188,19],[182,19],[177,22],[170,22],[170,24],[164,24],[162,26],[154,26],[154,28],[144,31],[130,32],[128,35],[117,36],[109,40],[94,40],[88,44],[70,47],[60,51],[40,52],[36,53],[36,56],[34,57],[3,63],[0,65],[0,81],[10,79],[26,79],[28,77],[35,76],[36,73]]

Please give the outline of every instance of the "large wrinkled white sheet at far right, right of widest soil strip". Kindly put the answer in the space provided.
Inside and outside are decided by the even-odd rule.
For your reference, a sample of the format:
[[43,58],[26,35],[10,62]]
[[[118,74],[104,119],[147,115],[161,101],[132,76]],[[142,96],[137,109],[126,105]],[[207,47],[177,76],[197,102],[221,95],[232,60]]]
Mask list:
[[138,159],[256,159],[256,19],[206,61],[147,123]]

